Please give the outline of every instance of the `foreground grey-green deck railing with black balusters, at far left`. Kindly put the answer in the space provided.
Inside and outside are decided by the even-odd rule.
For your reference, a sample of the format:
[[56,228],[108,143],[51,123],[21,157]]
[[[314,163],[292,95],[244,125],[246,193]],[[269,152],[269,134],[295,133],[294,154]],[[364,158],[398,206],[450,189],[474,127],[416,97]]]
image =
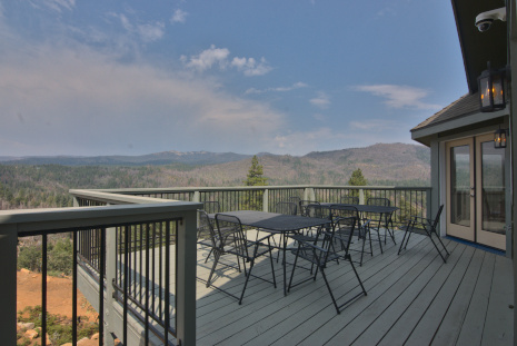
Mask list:
[[[128,320],[137,318],[142,330],[140,343],[145,345],[151,337],[155,340],[158,337],[165,345],[169,345],[171,339],[176,339],[177,344],[195,345],[196,210],[200,205],[88,191],[78,191],[77,195],[81,196],[78,204],[82,198],[83,205],[103,204],[106,207],[0,211],[2,344],[17,343],[18,240],[29,236],[41,236],[42,239],[40,335],[44,336],[48,237],[70,233],[73,238],[73,345],[77,343],[80,273],[91,274],[90,284],[95,286],[97,298],[90,297],[89,300],[101,312],[99,332],[105,335],[105,340],[113,333],[123,345],[131,344],[128,342]],[[116,202],[125,205],[112,206]],[[170,258],[170,244],[176,247],[173,260]],[[160,256],[157,256],[158,251]],[[102,339],[99,338],[99,345],[102,345]]]

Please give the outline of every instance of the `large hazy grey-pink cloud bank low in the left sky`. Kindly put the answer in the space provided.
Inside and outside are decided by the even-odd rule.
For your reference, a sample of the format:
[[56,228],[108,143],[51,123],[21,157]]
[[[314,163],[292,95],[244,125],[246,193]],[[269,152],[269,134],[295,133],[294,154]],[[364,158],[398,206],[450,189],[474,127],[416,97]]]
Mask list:
[[285,127],[285,116],[267,103],[206,78],[121,63],[86,46],[2,51],[0,138],[16,146],[1,146],[0,155],[117,154],[128,142],[133,154],[235,151],[236,144],[253,152]]

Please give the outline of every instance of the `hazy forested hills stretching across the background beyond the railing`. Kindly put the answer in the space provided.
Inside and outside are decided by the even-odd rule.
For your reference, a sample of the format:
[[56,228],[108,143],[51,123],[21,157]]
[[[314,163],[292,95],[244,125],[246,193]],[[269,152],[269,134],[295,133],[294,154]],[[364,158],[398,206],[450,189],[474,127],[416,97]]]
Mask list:
[[[222,164],[191,160],[148,166],[1,162],[0,209],[69,206],[71,188],[241,186],[251,162],[245,157]],[[429,158],[429,149],[421,146],[379,144],[302,157],[261,154],[259,161],[269,185],[346,185],[360,168],[369,185],[428,186]]]

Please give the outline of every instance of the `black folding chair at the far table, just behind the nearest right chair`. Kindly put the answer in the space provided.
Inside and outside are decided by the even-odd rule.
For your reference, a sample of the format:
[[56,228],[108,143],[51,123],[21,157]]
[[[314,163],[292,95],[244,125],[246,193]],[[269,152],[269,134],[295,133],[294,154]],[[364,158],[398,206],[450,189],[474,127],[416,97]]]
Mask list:
[[[332,208],[332,207],[330,207]],[[334,208],[332,208],[334,209]],[[371,245],[371,233],[370,233],[370,220],[361,220],[360,216],[359,216],[359,211],[357,210],[356,207],[354,206],[340,206],[339,207],[339,211],[340,211],[340,217],[338,217],[335,221],[335,224],[337,225],[337,223],[339,220],[350,220],[350,219],[355,219],[355,226],[354,226],[354,230],[351,231],[351,236],[356,236],[357,239],[359,239],[359,241],[362,241],[362,246],[360,249],[350,249],[349,248],[349,245],[347,247],[347,254],[349,254],[349,251],[358,251],[358,253],[361,253],[361,258],[360,260],[355,260],[356,263],[359,264],[359,266],[362,266],[362,259],[364,259],[364,256],[365,256],[365,246],[366,246],[366,240],[368,238],[368,241],[370,244],[370,251],[367,253],[369,254],[370,256],[374,256],[374,247]],[[345,224],[341,221],[341,226],[344,226]],[[349,231],[348,229],[346,228],[340,228],[338,227],[336,229],[336,238],[339,238],[340,234],[341,234],[341,230],[344,230],[344,233],[346,234],[346,236],[348,237],[349,235]],[[341,243],[341,249],[342,249],[342,243]]]

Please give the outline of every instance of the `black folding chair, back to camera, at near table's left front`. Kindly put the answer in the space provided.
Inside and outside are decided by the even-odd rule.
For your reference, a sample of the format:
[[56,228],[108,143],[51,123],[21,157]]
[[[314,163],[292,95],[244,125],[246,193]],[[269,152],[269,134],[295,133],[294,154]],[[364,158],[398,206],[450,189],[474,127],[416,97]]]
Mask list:
[[[245,276],[246,276],[245,284],[242,287],[242,293],[240,294],[240,297],[237,297],[220,287],[216,287],[216,286],[213,287],[238,299],[239,305],[242,304],[242,298],[245,296],[245,291],[246,291],[246,287],[248,286],[249,278],[251,276],[251,270],[253,269],[253,266],[255,266],[255,260],[260,256],[265,256],[269,254],[269,260],[271,263],[272,281],[269,281],[267,279],[264,279],[255,275],[253,277],[271,283],[274,287],[276,288],[277,281],[275,278],[275,267],[272,264],[272,256],[271,256],[272,247],[269,241],[269,238],[271,237],[271,235],[267,235],[266,237],[258,239],[258,241],[249,240],[247,239],[246,234],[242,229],[240,219],[238,217],[225,215],[225,214],[216,215],[216,225],[217,227],[212,228],[212,234],[211,234],[211,239],[213,243],[213,258],[215,259],[213,259],[212,269],[210,270],[210,275],[207,280],[207,287],[213,286],[211,283],[211,279],[217,268],[217,265],[220,263],[219,261],[220,258],[226,255],[237,256],[238,264],[240,260],[242,260]],[[265,244],[264,241],[267,241],[267,244]],[[249,263],[248,269],[246,268],[247,263]],[[239,273],[241,273],[240,264],[239,264],[238,269],[239,269]]]

